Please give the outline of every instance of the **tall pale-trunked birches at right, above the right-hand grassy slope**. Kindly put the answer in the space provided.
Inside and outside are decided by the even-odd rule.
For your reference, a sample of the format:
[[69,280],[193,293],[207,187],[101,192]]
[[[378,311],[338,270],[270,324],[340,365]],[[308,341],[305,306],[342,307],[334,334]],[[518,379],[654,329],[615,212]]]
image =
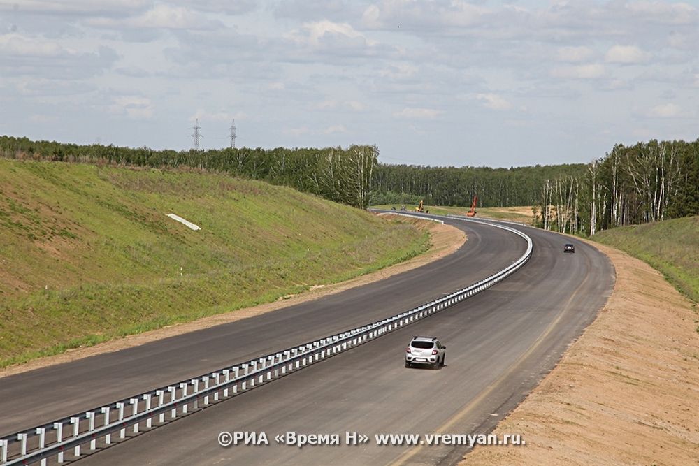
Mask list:
[[547,178],[535,224],[594,235],[617,226],[699,214],[699,139],[615,145],[580,173]]

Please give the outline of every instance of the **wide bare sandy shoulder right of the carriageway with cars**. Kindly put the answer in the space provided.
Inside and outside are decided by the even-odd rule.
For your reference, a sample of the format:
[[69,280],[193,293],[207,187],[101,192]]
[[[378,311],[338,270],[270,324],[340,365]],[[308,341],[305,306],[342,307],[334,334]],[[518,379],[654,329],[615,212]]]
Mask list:
[[[696,308],[662,275],[594,243],[614,292],[559,365],[461,465],[699,465]],[[652,291],[651,291],[652,290]]]

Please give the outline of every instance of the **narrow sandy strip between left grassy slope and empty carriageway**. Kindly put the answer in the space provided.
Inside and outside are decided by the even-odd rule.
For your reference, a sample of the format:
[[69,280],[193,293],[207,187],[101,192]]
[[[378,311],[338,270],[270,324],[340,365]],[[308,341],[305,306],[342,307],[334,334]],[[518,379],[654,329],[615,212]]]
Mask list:
[[183,333],[217,326],[222,323],[231,323],[239,321],[240,319],[247,319],[248,317],[281,309],[282,307],[289,307],[321,298],[322,296],[340,293],[340,291],[345,291],[347,289],[354,288],[355,286],[377,282],[381,279],[407,272],[408,270],[418,268],[421,265],[437,261],[442,257],[452,254],[456,251],[456,249],[459,249],[464,242],[466,242],[466,233],[463,233],[463,231],[453,226],[442,225],[433,221],[424,221],[414,218],[407,219],[406,217],[401,217],[401,221],[414,224],[417,228],[426,230],[430,233],[431,247],[427,252],[420,254],[409,261],[391,265],[391,267],[377,270],[376,272],[372,272],[367,275],[361,275],[360,277],[347,280],[346,282],[315,286],[305,293],[287,296],[284,297],[284,299],[277,300],[273,303],[265,303],[254,307],[247,307],[245,309],[226,312],[224,314],[208,316],[197,321],[167,326],[164,328],[159,328],[158,330],[140,333],[138,335],[129,335],[128,337],[96,344],[93,347],[71,349],[56,356],[38,358],[33,361],[29,361],[28,363],[6,367],[0,370],[0,378],[7,377],[8,375],[12,374],[19,374],[20,372],[27,372],[29,370],[34,370],[41,367],[76,361],[78,359],[95,356],[97,354],[112,353],[114,351],[120,351],[121,349],[136,347],[140,344],[162,340],[175,335],[182,335]]

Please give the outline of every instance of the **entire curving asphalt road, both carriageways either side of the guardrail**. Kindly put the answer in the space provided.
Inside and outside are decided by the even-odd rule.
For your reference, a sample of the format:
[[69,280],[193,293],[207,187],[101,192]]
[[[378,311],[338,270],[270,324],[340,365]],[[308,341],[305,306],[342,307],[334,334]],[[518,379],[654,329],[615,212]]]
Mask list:
[[[403,275],[245,321],[0,379],[0,432],[396,314],[490,275],[524,251],[524,240],[512,233],[454,224],[466,231],[466,245]],[[488,432],[555,365],[612,289],[612,267],[596,249],[578,243],[576,254],[563,254],[565,238],[524,229],[534,241],[532,259],[484,293],[80,463],[454,463],[463,446],[377,446],[373,435]],[[438,335],[447,345],[442,370],[403,367],[405,346],[418,333]],[[272,444],[224,449],[217,444],[222,430],[265,431]],[[303,449],[275,444],[272,437],[287,431],[340,437],[356,431],[372,439],[361,446]]]

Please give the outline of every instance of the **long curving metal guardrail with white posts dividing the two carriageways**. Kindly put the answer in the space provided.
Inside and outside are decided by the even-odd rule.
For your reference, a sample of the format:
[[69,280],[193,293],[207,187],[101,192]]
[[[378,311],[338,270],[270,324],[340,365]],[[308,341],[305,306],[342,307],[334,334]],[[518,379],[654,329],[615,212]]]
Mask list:
[[127,430],[131,435],[138,434],[141,428],[149,430],[154,428],[154,424],[161,425],[186,415],[190,409],[203,409],[445,310],[500,282],[531,257],[531,238],[524,233],[507,226],[463,220],[521,236],[527,242],[526,252],[512,265],[480,282],[387,319],[1,437],[0,465],[27,465],[41,461],[45,466],[47,458],[52,456],[56,456],[57,463],[64,463],[66,456],[75,460],[85,453],[82,450],[85,444],[89,444],[87,451],[94,452],[98,441],[100,448],[104,448],[113,444],[115,437],[117,442],[126,438]]

